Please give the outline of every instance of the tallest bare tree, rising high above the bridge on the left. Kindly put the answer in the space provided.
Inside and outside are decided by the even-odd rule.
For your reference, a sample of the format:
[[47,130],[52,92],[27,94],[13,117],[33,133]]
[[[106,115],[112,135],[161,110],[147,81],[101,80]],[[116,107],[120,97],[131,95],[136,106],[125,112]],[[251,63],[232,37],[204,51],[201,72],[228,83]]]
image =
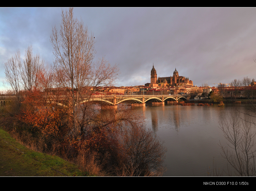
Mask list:
[[53,28],[51,42],[55,56],[54,70],[66,88],[71,111],[71,124],[74,138],[81,133],[81,104],[90,97],[90,88],[96,85],[108,85],[116,78],[117,68],[111,67],[104,59],[94,64],[95,38],[84,23],[73,15],[73,8],[62,10],[62,20],[58,34]]

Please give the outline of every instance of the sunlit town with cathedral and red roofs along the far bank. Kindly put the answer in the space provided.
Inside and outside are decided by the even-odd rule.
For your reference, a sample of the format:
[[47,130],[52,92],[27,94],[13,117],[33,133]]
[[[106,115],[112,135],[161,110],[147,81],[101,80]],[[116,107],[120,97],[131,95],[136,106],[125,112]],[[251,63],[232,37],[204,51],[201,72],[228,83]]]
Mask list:
[[[190,99],[203,99],[210,97],[210,94],[221,95],[224,98],[244,98],[255,97],[256,94],[256,82],[254,79],[244,79],[246,83],[230,83],[230,84],[218,84],[215,86],[208,86],[205,84],[202,86],[194,86],[193,81],[189,78],[179,76],[178,71],[175,68],[172,77],[158,77],[154,65],[151,70],[150,83],[137,86],[121,86],[121,87],[92,87],[94,91],[93,95],[184,95],[190,96]],[[213,95],[212,94],[212,95]]]

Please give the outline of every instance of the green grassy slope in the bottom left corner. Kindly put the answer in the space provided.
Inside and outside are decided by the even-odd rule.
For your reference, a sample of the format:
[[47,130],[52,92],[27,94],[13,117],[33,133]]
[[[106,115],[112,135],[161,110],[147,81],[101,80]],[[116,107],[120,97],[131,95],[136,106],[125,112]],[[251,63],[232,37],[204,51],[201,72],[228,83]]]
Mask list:
[[0,128],[0,176],[88,176],[77,165],[19,144]]

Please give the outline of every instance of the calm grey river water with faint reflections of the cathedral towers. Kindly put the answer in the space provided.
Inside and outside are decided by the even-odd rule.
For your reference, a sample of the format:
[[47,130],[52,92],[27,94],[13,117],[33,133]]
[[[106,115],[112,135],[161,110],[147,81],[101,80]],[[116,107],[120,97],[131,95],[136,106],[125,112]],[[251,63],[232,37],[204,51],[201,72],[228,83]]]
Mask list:
[[156,132],[168,149],[164,176],[207,176],[213,162],[217,168],[226,170],[227,161],[218,145],[225,145],[226,139],[218,126],[234,108],[246,110],[239,104],[133,107],[144,115],[146,127]]

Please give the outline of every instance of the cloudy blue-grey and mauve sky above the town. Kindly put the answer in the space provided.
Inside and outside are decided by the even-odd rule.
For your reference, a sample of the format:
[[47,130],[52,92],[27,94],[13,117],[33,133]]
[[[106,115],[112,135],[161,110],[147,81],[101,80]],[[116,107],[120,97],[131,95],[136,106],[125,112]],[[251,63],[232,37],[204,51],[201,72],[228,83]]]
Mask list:
[[[66,9],[66,8],[63,8]],[[119,68],[116,86],[158,77],[188,77],[196,86],[256,78],[256,8],[74,8],[96,39],[95,59]],[[32,45],[48,65],[54,60],[52,27],[61,8],[0,8],[0,90],[4,64]]]

